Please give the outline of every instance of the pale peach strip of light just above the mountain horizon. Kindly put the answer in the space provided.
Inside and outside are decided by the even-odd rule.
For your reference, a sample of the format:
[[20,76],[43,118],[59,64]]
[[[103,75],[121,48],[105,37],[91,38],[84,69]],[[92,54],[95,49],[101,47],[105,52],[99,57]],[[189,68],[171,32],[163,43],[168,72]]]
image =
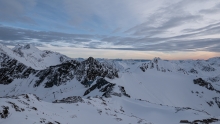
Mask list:
[[219,56],[217,52],[195,51],[195,52],[155,52],[155,51],[132,51],[132,50],[113,50],[113,49],[89,49],[72,47],[38,47],[40,50],[51,50],[59,52],[71,58],[106,58],[106,59],[153,59],[160,57],[167,60],[186,60],[186,59],[209,59]]

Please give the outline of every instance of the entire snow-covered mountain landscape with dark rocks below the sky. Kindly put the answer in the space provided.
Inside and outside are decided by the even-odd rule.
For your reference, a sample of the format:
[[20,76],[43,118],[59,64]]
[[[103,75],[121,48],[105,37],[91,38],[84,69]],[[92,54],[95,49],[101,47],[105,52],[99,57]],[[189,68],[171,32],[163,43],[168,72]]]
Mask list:
[[[21,59],[30,48],[38,50],[17,46],[11,50],[13,57],[7,52],[10,49],[1,47],[0,123],[220,123],[218,57],[180,61],[66,58],[39,69]],[[32,56],[28,57],[34,59],[35,52]],[[50,63],[46,60],[42,62]]]

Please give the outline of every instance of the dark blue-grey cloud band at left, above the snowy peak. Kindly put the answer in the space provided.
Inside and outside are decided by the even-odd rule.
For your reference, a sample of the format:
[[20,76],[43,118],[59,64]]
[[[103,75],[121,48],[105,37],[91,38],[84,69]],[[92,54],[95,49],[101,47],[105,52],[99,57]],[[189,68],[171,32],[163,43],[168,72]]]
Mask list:
[[[3,43],[7,41],[10,44],[25,44],[33,42],[32,39],[37,40],[38,45],[44,43],[66,42],[77,44],[79,42],[89,42],[90,39],[96,38],[96,35],[86,34],[67,34],[60,32],[46,32],[46,31],[33,31],[27,29],[11,28],[0,26],[0,40]],[[64,43],[63,43],[64,44]],[[62,43],[60,44],[62,46]]]

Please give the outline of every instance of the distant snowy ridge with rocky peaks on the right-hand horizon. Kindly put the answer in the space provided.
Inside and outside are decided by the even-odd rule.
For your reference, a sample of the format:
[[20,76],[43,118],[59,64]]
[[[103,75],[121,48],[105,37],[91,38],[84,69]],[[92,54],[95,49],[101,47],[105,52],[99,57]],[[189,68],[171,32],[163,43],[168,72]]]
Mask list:
[[215,57],[208,60],[162,60],[154,58],[152,61],[142,63],[139,68],[157,70],[161,72],[174,72],[197,77],[215,77],[220,74],[220,58]]

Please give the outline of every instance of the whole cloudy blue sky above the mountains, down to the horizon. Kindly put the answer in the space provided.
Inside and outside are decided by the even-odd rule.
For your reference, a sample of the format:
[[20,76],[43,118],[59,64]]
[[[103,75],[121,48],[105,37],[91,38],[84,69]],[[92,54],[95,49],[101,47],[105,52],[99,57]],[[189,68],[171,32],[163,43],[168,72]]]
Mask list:
[[219,0],[0,0],[0,43],[72,58],[220,56]]

